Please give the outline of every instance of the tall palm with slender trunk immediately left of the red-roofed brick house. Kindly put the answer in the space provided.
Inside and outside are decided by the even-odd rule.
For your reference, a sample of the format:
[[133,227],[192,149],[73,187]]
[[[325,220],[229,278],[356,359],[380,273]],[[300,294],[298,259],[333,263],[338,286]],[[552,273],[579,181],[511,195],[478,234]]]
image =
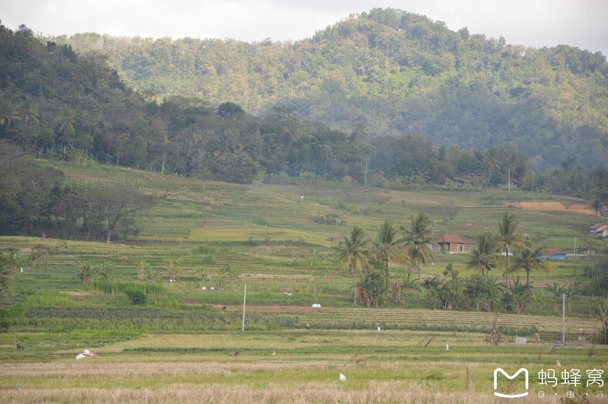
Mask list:
[[434,261],[433,250],[429,247],[433,242],[429,230],[431,219],[426,213],[418,213],[417,216],[410,216],[410,222],[412,226],[410,229],[401,226],[401,230],[405,232],[403,239],[406,242],[406,254],[418,265],[417,306],[420,306],[420,264],[426,266]]

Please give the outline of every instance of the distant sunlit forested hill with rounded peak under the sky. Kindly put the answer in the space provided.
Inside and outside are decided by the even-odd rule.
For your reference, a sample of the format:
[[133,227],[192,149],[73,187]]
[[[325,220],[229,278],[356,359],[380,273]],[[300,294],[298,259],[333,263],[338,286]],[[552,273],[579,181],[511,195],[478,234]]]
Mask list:
[[470,35],[394,9],[351,16],[295,43],[234,39],[58,37],[100,50],[126,83],[157,94],[281,105],[334,128],[421,133],[436,145],[515,142],[556,164],[606,165],[608,64],[601,53],[534,49]]

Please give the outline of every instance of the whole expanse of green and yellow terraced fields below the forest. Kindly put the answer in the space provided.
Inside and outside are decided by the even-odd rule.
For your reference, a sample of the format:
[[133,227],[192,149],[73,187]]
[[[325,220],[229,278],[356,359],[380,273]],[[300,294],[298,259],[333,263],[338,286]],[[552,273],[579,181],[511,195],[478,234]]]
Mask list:
[[[572,253],[575,236],[578,251],[598,245],[587,231],[595,217],[509,206],[572,198],[521,191],[248,187],[212,181],[203,191],[194,179],[114,166],[59,166],[77,181],[139,181],[159,203],[134,237],[109,245],[68,240],[47,272],[38,263],[18,273],[12,301],[25,302],[29,309],[9,333],[0,334],[0,402],[497,403],[504,399],[492,395],[494,368],[512,372],[523,366],[535,380],[539,369],[554,368],[557,360],[564,368],[608,365],[608,349],[601,346],[550,352],[552,344],[485,341],[492,327],[509,340],[524,335],[530,342],[536,333],[547,343],[561,339],[561,306],[556,312],[551,296],[545,307],[535,305],[527,315],[478,312],[474,305],[468,310],[429,310],[424,296],[416,307],[413,293],[407,307],[392,302],[382,309],[353,307],[351,275],[331,251],[354,225],[373,237],[385,219],[407,225],[410,214],[420,211],[433,217],[435,235],[458,233],[472,240],[478,231],[494,230],[506,210],[517,214],[521,231],[544,235],[548,245]],[[449,214],[444,220],[441,208],[450,203],[452,221]],[[328,214],[337,217],[336,224],[315,220]],[[0,249],[20,256],[35,245],[56,243],[35,236],[0,237]],[[162,275],[170,255],[182,270],[178,282]],[[164,286],[149,296],[145,307],[133,306],[122,292],[95,292],[77,278],[78,262],[91,260],[95,267],[109,260],[116,267],[112,281],[137,282],[135,262],[140,259],[161,273]],[[422,278],[441,275],[450,263],[462,276],[470,275],[463,271],[465,261],[464,255],[436,255],[435,265],[422,268]],[[531,274],[534,287],[589,281],[583,272],[590,264],[587,258],[553,262],[553,272]],[[223,290],[210,290],[226,265],[235,265],[241,275],[228,279]],[[206,270],[207,281],[198,278],[200,269]],[[391,267],[398,278],[408,270]],[[502,272],[492,275],[502,279]],[[248,309],[241,335],[244,283]],[[322,307],[313,308],[313,303]],[[567,340],[591,340],[598,326],[589,301],[572,302],[565,322]],[[434,339],[424,348],[429,338]],[[22,344],[24,350],[13,349],[13,344]],[[99,356],[75,361],[83,349]],[[339,382],[345,361],[358,352],[364,352],[362,361],[349,362],[342,370],[348,380]],[[536,396],[538,387],[532,381],[531,396],[520,402],[565,400],[565,386],[546,388],[550,394],[542,401]],[[574,390],[592,391],[586,386]],[[581,397],[564,402],[603,402],[595,395]]]

